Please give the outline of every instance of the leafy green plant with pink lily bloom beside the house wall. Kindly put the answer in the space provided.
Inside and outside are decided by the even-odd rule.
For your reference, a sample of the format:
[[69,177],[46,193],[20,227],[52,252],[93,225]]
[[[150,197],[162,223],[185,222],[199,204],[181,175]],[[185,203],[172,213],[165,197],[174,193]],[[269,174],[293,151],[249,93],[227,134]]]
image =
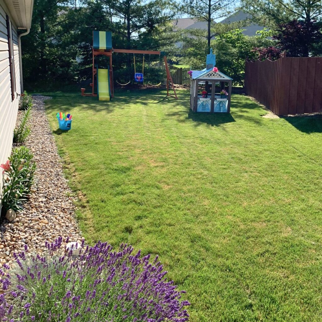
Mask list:
[[8,209],[21,210],[22,202],[28,198],[33,184],[36,170],[33,155],[26,147],[17,147],[12,150],[11,156],[5,164],[2,174],[5,174],[5,184],[2,194],[2,213]]

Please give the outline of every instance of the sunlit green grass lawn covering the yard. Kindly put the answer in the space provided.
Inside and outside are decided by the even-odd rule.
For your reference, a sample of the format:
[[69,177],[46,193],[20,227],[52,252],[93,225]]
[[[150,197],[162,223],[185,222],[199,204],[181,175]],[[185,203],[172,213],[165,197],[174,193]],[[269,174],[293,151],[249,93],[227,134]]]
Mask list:
[[321,321],[322,118],[262,118],[239,95],[195,114],[184,90],[50,95],[89,242],[159,254],[191,321]]

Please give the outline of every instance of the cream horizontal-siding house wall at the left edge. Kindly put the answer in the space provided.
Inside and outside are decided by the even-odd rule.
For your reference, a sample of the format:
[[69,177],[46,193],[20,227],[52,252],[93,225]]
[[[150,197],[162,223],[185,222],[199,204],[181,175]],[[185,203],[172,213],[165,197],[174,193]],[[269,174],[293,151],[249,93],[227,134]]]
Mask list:
[[[20,98],[20,96],[17,97],[16,94],[20,94],[18,29],[14,25],[13,20],[10,19],[12,23],[16,83],[16,92],[14,95],[14,100],[12,100],[6,14],[9,15],[9,18],[11,18],[3,0],[0,0],[0,164],[4,163],[11,153],[13,130],[16,123],[18,103]],[[0,194],[2,193],[2,184],[2,171],[0,171]]]

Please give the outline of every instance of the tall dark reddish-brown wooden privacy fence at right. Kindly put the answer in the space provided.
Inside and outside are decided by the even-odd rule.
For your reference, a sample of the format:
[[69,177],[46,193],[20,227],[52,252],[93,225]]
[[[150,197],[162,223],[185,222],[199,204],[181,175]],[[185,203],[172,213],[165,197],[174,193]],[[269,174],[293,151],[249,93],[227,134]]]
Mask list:
[[246,62],[245,91],[277,115],[322,111],[322,57]]

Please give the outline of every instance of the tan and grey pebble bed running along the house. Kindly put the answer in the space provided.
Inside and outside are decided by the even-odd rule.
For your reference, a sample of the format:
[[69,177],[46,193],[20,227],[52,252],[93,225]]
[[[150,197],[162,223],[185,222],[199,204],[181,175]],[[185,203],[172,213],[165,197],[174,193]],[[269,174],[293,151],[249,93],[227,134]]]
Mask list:
[[[25,146],[30,148],[37,170],[35,184],[24,210],[17,213],[13,222],[5,220],[0,226],[0,268],[10,262],[13,252],[27,244],[42,251],[45,241],[53,242],[58,236],[63,240],[81,242],[81,232],[74,219],[75,197],[63,175],[61,158],[45,114],[46,96],[33,96],[33,109],[29,125],[31,133]],[[21,111],[18,112],[19,123]],[[62,248],[64,245],[62,245]]]

